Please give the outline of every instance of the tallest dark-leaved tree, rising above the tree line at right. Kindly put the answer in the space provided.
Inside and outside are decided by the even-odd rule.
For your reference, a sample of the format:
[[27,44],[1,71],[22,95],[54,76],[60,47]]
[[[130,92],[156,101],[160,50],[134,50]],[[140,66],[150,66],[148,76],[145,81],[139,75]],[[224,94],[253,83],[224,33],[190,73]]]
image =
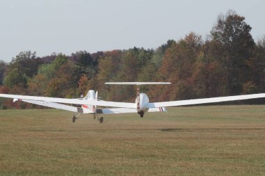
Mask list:
[[220,15],[211,31],[213,40],[220,43],[219,49],[222,50],[217,58],[225,69],[223,75],[227,77],[227,95],[241,93],[243,83],[248,81],[248,74],[251,74],[246,64],[255,47],[250,31],[251,27],[245,22],[245,17],[232,10],[226,15]]

